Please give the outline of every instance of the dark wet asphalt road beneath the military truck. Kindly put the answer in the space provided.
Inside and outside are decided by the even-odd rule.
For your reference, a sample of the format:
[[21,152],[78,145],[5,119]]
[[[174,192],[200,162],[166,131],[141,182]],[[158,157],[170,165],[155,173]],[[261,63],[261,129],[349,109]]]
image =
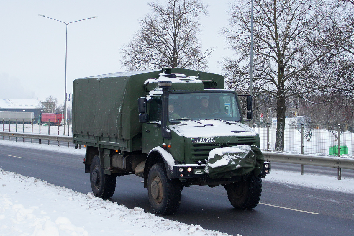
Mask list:
[[[11,148],[1,144],[0,168],[41,178],[48,183],[66,186],[84,194],[91,191],[88,174],[83,173],[84,152],[82,150],[76,150],[81,153],[68,154],[26,149],[21,146]],[[273,172],[273,175],[276,177],[279,173]],[[283,174],[279,178],[284,178],[284,176]],[[313,178],[310,182],[318,182],[319,185],[326,182],[329,185],[347,184],[345,180],[341,183],[333,182],[333,178],[329,180],[329,177],[310,176],[310,178]],[[272,178],[269,177],[269,179]],[[112,201],[129,208],[141,207],[145,212],[151,212],[146,189],[143,188],[140,180],[135,175],[117,178],[116,192]],[[292,235],[353,234],[353,192],[341,193],[292,184],[264,181],[261,198],[263,204],[258,205],[253,211],[233,209],[222,187],[184,188],[178,214],[166,218],[186,224],[198,224],[205,229],[219,230],[234,235],[238,233],[244,236],[289,235],[289,232],[292,232]],[[353,182],[351,184],[353,185]],[[334,190],[341,189],[335,187]]]

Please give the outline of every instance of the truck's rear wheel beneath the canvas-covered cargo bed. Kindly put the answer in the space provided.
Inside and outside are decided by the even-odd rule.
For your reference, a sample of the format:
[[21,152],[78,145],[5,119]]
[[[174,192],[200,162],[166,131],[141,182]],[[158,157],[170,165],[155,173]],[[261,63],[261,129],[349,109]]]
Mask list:
[[90,182],[93,195],[103,199],[112,197],[115,190],[115,181],[115,176],[104,174],[99,157],[94,156],[90,167]]

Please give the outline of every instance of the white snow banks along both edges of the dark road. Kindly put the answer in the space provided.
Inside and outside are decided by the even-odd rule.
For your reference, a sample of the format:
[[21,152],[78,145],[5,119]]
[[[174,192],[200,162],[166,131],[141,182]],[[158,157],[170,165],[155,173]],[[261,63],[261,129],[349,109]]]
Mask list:
[[[85,150],[16,143],[0,140],[2,145],[82,154]],[[301,175],[272,170],[264,181],[342,191],[354,194],[354,179]],[[34,191],[35,190],[35,191]],[[227,235],[164,219],[142,208],[128,209],[117,203],[48,184],[40,179],[0,169],[0,236],[75,236],[75,235]]]

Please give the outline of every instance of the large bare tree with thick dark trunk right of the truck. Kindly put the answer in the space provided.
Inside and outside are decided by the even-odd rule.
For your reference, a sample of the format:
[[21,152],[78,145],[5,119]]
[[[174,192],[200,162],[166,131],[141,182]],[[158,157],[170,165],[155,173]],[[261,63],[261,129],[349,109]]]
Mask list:
[[[275,149],[284,150],[287,99],[325,90],[329,75],[321,74],[319,62],[343,51],[328,40],[338,5],[325,0],[255,0],[254,4],[253,94],[268,93],[276,99]],[[238,58],[225,59],[225,77],[229,87],[247,90],[250,3],[236,1],[229,14],[229,28],[223,33]]]

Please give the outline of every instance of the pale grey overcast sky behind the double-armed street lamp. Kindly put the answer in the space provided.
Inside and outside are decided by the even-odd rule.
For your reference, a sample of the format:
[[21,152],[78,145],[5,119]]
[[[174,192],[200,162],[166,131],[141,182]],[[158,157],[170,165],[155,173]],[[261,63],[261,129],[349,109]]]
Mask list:
[[[145,0],[0,0],[0,98],[39,98],[52,95],[64,103],[65,24],[68,25],[67,94],[73,80],[125,71],[120,47],[139,30],[139,19],[149,12]],[[165,2],[159,0],[159,2]],[[221,73],[219,62],[232,52],[225,49],[220,30],[228,23],[227,0],[204,0],[209,17],[199,35],[204,49],[215,51],[209,71]]]

